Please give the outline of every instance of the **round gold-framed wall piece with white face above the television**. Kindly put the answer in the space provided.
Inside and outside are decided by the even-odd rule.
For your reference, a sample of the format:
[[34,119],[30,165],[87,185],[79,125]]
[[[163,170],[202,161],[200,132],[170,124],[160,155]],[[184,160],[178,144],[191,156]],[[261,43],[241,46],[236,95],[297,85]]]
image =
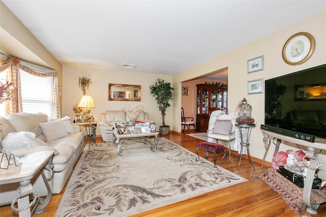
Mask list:
[[309,33],[297,33],[291,36],[284,44],[282,57],[288,65],[305,63],[315,49],[315,39]]

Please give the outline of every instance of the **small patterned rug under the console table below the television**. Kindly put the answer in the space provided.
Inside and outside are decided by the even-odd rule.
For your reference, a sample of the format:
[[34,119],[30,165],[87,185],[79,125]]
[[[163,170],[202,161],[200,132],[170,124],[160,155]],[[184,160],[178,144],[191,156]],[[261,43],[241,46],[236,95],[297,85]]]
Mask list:
[[[306,205],[303,201],[303,188],[297,187],[283,175],[271,168],[268,168],[266,172],[259,177],[276,191],[296,214],[304,217],[312,216],[307,214],[308,212],[305,212]],[[321,204],[324,202],[326,202],[326,189],[312,189],[310,203]]]

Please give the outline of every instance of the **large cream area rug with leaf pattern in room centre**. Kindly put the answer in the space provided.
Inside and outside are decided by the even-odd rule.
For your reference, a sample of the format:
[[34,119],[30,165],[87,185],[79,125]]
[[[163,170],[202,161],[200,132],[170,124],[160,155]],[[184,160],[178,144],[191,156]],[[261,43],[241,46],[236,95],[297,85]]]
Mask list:
[[[127,216],[248,181],[165,138],[85,148],[56,216]],[[150,139],[153,142],[153,139]]]

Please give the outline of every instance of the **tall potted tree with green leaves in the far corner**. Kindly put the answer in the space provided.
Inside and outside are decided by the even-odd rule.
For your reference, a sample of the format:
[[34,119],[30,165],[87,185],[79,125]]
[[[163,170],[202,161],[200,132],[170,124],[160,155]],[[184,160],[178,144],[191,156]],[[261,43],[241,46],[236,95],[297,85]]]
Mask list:
[[149,86],[151,95],[155,97],[157,108],[162,115],[162,125],[159,127],[159,132],[162,135],[169,134],[170,126],[165,124],[166,110],[171,105],[169,101],[172,100],[172,91],[174,88],[171,83],[165,82],[163,79],[158,78],[155,80],[154,84]]

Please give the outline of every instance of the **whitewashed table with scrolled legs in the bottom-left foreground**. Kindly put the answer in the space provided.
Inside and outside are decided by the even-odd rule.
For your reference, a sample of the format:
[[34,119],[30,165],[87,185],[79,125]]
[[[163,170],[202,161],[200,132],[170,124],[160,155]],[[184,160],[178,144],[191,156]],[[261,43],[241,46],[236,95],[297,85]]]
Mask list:
[[[11,203],[11,208],[14,211],[18,211],[19,216],[30,217],[35,210],[36,213],[40,214],[44,211],[45,206],[49,203],[52,197],[52,191],[49,183],[47,182],[43,169],[45,167],[49,170],[52,169],[51,166],[47,166],[47,164],[52,159],[53,154],[53,151],[38,151],[28,153],[20,158],[21,165],[10,165],[8,169],[0,169],[0,184],[19,182],[19,187],[17,188],[17,198],[14,198]],[[41,171],[41,175],[47,189],[45,201],[40,201],[40,198],[37,197],[37,192],[33,191],[33,186],[31,184],[31,179],[39,171]],[[29,195],[32,193],[34,199],[30,204]],[[37,206],[39,201],[41,205]],[[15,207],[16,202],[18,203],[18,208]],[[32,211],[30,207],[32,207]]]

